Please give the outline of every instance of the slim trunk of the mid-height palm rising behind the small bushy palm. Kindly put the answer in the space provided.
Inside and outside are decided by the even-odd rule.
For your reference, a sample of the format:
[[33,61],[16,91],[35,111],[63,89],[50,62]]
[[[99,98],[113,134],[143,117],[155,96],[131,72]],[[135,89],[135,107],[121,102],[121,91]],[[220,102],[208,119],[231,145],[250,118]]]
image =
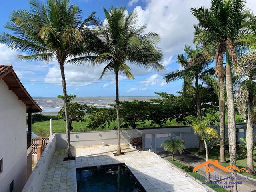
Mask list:
[[[195,80],[196,80],[196,84],[195,84],[195,87],[196,87],[196,110],[197,110],[197,118],[199,120],[202,120],[202,114],[201,114],[201,101],[200,101],[200,96],[199,96],[199,85],[198,85],[198,76],[196,75],[195,76]],[[198,153],[203,153],[204,152],[204,144],[202,142],[202,136],[201,134],[198,134],[198,146],[199,146],[199,149],[198,149]]]

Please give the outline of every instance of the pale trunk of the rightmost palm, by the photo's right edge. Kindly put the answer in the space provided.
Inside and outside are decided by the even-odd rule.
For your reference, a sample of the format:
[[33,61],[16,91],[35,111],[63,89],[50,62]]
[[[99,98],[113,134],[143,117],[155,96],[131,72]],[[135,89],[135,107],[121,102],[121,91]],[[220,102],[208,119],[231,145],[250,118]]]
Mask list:
[[254,126],[252,119],[252,104],[248,99],[248,121],[246,128],[246,143],[247,143],[247,167],[250,173],[254,173],[253,165],[253,147],[254,147]]

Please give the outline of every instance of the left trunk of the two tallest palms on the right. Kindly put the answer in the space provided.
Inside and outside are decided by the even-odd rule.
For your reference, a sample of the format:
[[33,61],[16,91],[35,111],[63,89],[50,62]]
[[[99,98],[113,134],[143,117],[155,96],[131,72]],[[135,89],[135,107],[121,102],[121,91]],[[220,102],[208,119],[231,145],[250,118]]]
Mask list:
[[219,111],[220,111],[220,162],[225,163],[225,86],[224,77],[218,76],[218,84],[220,89],[219,95]]

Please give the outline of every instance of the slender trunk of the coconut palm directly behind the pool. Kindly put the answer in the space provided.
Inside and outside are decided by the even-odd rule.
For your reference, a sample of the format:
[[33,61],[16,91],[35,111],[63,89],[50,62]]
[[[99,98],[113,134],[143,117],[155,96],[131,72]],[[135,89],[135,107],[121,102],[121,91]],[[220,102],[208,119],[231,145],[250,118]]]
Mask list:
[[116,154],[121,154],[121,128],[120,128],[120,103],[119,103],[119,86],[118,86],[118,70],[115,72],[116,75],[116,120],[117,120],[117,150]]

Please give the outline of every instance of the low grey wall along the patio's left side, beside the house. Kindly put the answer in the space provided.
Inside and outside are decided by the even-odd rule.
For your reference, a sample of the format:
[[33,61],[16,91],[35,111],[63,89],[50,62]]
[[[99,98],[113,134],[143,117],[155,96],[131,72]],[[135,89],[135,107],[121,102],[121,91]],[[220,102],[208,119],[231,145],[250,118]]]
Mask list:
[[22,192],[40,192],[48,166],[52,161],[56,149],[56,135],[53,134],[50,138],[42,156],[38,160],[32,174],[28,178],[26,185],[24,186]]

